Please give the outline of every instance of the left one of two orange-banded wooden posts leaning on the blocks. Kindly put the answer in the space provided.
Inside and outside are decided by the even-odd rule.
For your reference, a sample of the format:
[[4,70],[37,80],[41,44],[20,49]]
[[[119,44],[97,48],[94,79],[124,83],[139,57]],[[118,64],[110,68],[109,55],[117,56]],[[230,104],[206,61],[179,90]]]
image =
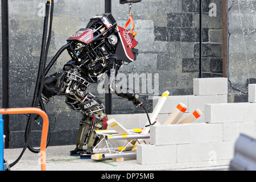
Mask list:
[[180,102],[176,106],[174,111],[172,111],[170,116],[166,119],[166,121],[164,122],[164,125],[176,124],[187,109],[188,107]]

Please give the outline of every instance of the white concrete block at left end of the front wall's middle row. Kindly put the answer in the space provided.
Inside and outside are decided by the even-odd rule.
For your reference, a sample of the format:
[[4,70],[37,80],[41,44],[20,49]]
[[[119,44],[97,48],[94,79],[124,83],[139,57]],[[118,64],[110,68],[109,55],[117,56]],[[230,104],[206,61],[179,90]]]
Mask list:
[[150,143],[155,145],[189,143],[189,124],[150,127]]

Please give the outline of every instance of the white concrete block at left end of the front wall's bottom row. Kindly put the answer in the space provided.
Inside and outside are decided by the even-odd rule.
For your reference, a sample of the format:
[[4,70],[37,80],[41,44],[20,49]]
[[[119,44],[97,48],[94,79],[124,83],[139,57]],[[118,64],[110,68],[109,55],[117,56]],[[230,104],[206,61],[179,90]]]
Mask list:
[[138,164],[166,164],[177,162],[176,145],[155,146],[139,144],[137,146]]

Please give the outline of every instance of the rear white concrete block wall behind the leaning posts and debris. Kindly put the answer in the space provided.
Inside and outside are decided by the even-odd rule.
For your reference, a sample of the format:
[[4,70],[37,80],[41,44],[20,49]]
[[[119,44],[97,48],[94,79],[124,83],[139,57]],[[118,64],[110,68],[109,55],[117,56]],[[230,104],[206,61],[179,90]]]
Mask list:
[[[153,97],[153,108],[158,103],[159,98],[160,96]],[[174,111],[179,102],[188,107],[187,111],[185,111],[181,119],[187,117],[187,115],[191,114],[194,110],[199,108],[203,115],[201,115],[201,117],[198,118],[196,122],[204,122],[204,104],[228,102],[228,81],[226,78],[194,78],[193,95],[167,97],[167,100],[157,117],[161,124],[166,121],[166,119],[169,117],[172,111]],[[147,115],[144,113],[112,114],[108,115],[108,117],[109,119],[114,118],[126,129],[131,129],[134,127],[142,128],[147,121]]]

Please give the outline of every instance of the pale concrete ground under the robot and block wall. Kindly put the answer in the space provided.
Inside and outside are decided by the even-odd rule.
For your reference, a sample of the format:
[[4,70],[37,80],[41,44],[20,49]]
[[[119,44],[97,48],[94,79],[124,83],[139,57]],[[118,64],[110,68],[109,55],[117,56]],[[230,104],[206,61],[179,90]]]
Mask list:
[[[217,160],[210,162],[171,163],[141,165],[136,158],[125,158],[123,162],[114,162],[112,159],[96,161],[80,159],[70,156],[69,151],[75,146],[47,147],[47,171],[225,171],[229,168],[230,160]],[[4,158],[8,164],[16,160],[22,148],[5,149]],[[39,154],[28,149],[11,171],[40,171]]]

